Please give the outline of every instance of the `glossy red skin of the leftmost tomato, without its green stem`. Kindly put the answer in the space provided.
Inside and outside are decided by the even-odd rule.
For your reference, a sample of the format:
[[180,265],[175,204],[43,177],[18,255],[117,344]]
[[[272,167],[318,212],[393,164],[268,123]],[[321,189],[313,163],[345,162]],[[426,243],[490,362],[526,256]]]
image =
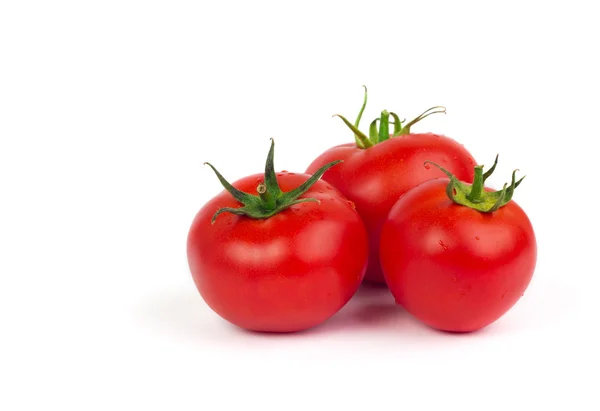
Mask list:
[[[290,191],[310,176],[278,173]],[[262,174],[234,187],[256,192]],[[227,192],[210,200],[196,215],[188,235],[192,277],[206,303],[239,327],[293,332],[316,326],[354,295],[367,266],[367,234],[354,205],[319,180],[296,204],[268,219],[223,213],[239,207]]]

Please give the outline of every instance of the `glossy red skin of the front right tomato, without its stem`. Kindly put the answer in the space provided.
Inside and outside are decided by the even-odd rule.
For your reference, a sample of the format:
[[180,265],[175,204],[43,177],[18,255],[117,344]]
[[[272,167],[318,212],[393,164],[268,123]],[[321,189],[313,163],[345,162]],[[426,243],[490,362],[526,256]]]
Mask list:
[[425,182],[392,207],[381,264],[408,312],[433,328],[469,332],[496,321],[523,295],[537,245],[517,203],[482,213],[453,203],[448,181]]

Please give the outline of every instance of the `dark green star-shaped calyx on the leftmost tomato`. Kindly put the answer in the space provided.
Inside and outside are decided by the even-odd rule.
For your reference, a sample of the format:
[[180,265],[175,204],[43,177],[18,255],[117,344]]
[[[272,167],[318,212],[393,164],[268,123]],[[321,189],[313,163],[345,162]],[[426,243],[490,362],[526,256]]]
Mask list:
[[232,213],[237,215],[245,215],[255,219],[269,218],[294,204],[305,203],[308,201],[319,202],[316,198],[301,198],[298,199],[302,194],[306,193],[308,189],[317,182],[319,178],[331,167],[341,163],[342,160],[332,161],[331,163],[325,164],[323,167],[317,170],[308,180],[302,185],[295,188],[292,191],[284,193],[279,188],[277,177],[275,175],[275,166],[273,163],[275,152],[275,141],[271,139],[271,149],[267,156],[267,163],[265,164],[265,178],[264,182],[260,183],[256,187],[258,195],[252,195],[245,193],[233,187],[225,178],[217,171],[216,168],[210,163],[204,163],[208,165],[217,175],[217,178],[221,182],[221,185],[227,190],[237,201],[243,204],[242,207],[224,207],[217,210],[213,215],[211,224],[214,224],[217,217],[221,213]]

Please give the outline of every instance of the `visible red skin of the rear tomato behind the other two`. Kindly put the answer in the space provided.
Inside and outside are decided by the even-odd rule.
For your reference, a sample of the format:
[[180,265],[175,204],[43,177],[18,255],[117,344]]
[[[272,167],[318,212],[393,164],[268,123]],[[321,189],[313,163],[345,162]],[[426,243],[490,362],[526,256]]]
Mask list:
[[333,147],[315,159],[307,173],[333,160],[343,163],[329,169],[323,179],[356,204],[369,234],[369,267],[365,279],[385,284],[379,263],[379,238],[388,212],[412,187],[444,176],[433,161],[465,182],[473,181],[473,156],[446,136],[425,133],[393,137],[368,149],[354,143]]

